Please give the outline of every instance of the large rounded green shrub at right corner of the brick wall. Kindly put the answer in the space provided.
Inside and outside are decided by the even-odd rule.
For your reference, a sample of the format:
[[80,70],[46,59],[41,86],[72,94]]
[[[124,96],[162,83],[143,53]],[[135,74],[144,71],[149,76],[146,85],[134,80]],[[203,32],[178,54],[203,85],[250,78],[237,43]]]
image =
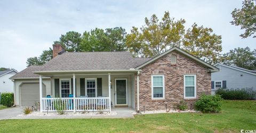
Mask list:
[[202,113],[218,113],[221,111],[221,96],[220,95],[202,95],[195,102],[195,108]]

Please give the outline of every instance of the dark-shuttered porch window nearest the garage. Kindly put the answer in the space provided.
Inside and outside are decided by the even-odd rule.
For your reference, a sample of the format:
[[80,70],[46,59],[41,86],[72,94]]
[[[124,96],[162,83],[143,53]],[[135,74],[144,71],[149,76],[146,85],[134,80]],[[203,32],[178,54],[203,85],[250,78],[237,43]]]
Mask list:
[[71,94],[71,79],[60,79],[61,97],[68,97]]

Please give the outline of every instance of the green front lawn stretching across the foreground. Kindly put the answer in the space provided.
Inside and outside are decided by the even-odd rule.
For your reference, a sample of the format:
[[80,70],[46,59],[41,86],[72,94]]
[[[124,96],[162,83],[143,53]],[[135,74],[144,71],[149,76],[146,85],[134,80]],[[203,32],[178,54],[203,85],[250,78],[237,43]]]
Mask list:
[[256,130],[256,101],[223,101],[219,114],[163,113],[135,119],[2,120],[0,132],[240,132]]

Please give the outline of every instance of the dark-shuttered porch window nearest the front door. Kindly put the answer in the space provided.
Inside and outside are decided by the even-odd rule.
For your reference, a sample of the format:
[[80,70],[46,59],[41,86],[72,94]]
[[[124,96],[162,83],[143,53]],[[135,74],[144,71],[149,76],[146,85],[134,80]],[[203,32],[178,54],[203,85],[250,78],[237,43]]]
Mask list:
[[96,97],[97,96],[97,79],[96,78],[90,78],[85,79],[85,85],[86,85],[86,96],[88,97]]

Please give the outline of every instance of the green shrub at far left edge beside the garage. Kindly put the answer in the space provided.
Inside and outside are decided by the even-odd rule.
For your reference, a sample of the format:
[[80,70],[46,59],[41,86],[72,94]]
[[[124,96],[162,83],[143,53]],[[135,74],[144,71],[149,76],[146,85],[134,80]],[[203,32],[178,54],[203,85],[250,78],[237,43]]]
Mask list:
[[7,107],[11,107],[14,104],[13,93],[2,93],[1,94],[1,104]]

